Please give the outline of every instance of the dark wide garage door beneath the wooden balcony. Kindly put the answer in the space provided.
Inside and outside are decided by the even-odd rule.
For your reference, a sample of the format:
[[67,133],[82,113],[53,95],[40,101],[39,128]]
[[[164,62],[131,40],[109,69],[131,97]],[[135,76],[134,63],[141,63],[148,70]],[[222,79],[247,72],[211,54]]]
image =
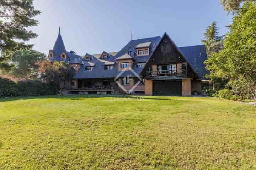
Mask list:
[[153,81],[153,91],[157,96],[182,96],[182,80]]

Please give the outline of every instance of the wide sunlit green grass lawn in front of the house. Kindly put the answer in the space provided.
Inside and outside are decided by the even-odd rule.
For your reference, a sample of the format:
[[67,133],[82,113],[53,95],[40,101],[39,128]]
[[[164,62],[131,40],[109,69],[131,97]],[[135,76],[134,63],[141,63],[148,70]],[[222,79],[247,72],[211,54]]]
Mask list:
[[256,108],[193,97],[0,100],[0,169],[256,169]]

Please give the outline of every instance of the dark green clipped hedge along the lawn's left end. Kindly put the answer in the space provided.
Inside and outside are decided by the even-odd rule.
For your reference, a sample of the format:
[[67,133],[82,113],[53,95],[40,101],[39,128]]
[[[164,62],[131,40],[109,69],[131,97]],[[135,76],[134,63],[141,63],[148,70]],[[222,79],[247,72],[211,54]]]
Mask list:
[[48,85],[37,80],[23,80],[16,83],[0,78],[0,97],[54,95],[57,92],[56,85]]

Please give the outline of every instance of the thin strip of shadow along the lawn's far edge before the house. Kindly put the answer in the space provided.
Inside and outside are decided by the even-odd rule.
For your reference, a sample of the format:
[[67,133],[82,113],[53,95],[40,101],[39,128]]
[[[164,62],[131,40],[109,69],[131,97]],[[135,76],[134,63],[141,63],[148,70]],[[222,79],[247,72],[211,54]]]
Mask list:
[[17,101],[17,100],[31,100],[31,99],[64,99],[64,100],[81,100],[83,98],[127,98],[134,100],[169,100],[178,101],[175,99],[170,99],[171,96],[117,96],[117,95],[70,95],[70,96],[32,96],[32,97],[9,97],[0,99],[0,102]]

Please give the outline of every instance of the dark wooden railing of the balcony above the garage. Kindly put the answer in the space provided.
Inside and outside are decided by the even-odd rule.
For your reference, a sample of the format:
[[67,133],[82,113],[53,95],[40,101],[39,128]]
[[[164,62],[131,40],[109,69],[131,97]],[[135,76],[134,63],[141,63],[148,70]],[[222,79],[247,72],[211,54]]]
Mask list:
[[186,69],[147,71],[147,77],[187,77]]

